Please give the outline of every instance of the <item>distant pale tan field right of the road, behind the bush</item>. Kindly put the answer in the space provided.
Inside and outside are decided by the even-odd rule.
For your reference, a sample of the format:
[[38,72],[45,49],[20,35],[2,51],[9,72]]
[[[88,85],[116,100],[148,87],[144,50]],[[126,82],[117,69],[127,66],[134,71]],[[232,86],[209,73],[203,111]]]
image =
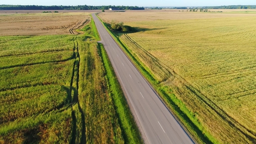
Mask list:
[[[215,10],[222,11],[222,10]],[[237,10],[239,11],[239,10]],[[251,13],[203,13],[203,12],[188,12],[184,10],[184,12],[179,12],[179,10],[128,10],[126,12],[115,12],[115,13],[100,13],[98,16],[105,21],[111,22],[111,20],[122,21],[125,24],[129,24],[131,26],[132,22],[141,23],[140,26],[144,26],[143,23],[145,21],[155,21],[155,20],[194,20],[194,19],[206,19],[206,18],[220,18],[220,17],[244,17],[244,16],[256,16],[256,10],[247,10]],[[229,10],[229,12],[235,12]],[[255,12],[255,13],[253,13]],[[137,25],[136,25],[137,27]]]

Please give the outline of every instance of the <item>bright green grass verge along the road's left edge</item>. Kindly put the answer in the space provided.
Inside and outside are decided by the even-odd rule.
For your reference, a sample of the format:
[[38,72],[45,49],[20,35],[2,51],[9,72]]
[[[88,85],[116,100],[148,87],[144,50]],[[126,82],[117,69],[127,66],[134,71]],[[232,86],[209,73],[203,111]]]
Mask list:
[[125,96],[121,90],[121,86],[115,76],[114,69],[108,59],[107,53],[101,43],[98,43],[99,54],[102,57],[102,62],[106,71],[106,79],[108,81],[108,88],[114,100],[119,123],[123,131],[125,142],[128,144],[142,144],[138,127],[135,124],[131,111],[127,105]]

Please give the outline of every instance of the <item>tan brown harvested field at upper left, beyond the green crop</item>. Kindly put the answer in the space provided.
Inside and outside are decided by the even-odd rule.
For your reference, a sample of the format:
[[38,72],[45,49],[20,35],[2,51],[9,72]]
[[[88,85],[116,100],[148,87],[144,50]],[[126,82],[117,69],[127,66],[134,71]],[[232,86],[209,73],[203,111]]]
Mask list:
[[[2,14],[2,15],[1,15]],[[25,13],[0,14],[0,36],[38,36],[71,34],[74,26],[81,28],[89,13]],[[81,23],[80,23],[81,22]]]

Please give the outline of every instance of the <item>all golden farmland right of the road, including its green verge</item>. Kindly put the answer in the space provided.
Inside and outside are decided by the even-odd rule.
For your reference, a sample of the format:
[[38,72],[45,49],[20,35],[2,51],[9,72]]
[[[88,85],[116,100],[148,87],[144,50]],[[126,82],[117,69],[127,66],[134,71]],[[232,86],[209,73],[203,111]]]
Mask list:
[[138,29],[115,35],[199,143],[256,142],[255,10],[98,16]]

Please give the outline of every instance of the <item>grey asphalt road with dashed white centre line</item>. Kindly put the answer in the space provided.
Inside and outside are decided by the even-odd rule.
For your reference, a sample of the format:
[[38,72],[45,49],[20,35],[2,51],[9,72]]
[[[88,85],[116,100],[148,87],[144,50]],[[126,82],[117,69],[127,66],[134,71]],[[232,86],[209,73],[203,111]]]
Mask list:
[[194,144],[171,112],[154,92],[148,82],[127,58],[107,32],[102,23],[92,14],[101,42],[108,53],[119,82],[145,144]]

